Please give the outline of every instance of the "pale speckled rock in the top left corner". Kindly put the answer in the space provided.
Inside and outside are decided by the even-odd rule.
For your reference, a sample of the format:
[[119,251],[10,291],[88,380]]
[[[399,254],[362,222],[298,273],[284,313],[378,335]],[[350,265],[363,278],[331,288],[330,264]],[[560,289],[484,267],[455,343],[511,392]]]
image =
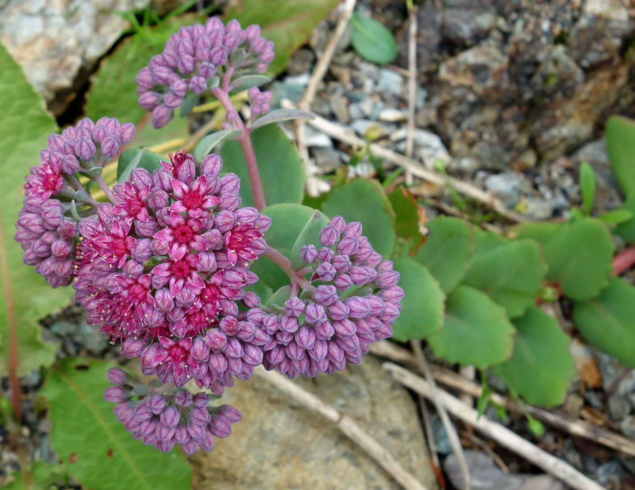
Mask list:
[[78,75],[83,74],[85,80],[95,61],[128,27],[128,21],[115,11],[138,10],[147,3],[148,0],[9,0],[0,8],[0,41],[47,101],[62,93],[62,100],[51,107],[54,112],[61,112],[65,96],[77,88]]

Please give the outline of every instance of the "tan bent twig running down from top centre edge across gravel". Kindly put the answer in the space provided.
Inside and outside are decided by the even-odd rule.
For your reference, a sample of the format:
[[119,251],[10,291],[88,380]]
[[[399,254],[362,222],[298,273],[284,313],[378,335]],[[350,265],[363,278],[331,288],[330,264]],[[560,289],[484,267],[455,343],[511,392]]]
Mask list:
[[[319,82],[322,81],[324,75],[326,74],[326,70],[328,70],[328,67],[331,64],[331,60],[333,59],[333,55],[335,54],[335,48],[337,48],[337,43],[340,41],[340,38],[344,34],[349,20],[351,20],[351,15],[355,8],[355,3],[356,0],[344,1],[344,10],[340,14],[340,18],[337,21],[335,30],[333,30],[331,39],[328,41],[328,44],[326,44],[324,52],[321,54],[321,56],[319,56],[318,63],[316,63],[316,67],[313,69],[313,73],[311,74],[309,83],[307,83],[307,88],[304,91],[302,100],[298,103],[298,107],[300,107],[302,110],[311,110],[311,103],[316,96],[316,92],[318,91]],[[309,150],[307,148],[306,139],[304,138],[305,127],[306,121],[304,119],[296,120],[295,141],[298,145],[298,153],[300,153],[300,158],[302,158],[302,161],[304,162],[307,176],[311,177],[314,175],[315,172],[309,162]],[[307,184],[309,183],[307,182]]]

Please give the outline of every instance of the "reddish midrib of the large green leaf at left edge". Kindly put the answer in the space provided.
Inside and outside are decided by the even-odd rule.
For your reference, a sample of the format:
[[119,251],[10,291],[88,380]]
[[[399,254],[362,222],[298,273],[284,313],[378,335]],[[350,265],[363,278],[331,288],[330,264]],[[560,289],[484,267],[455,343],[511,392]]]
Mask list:
[[11,294],[11,278],[9,276],[4,234],[2,233],[2,209],[0,209],[0,271],[2,273],[4,302],[6,302],[6,319],[9,330],[9,385],[11,387],[11,406],[18,423],[22,423],[20,409],[20,381],[18,380],[18,330],[15,323],[15,305]]

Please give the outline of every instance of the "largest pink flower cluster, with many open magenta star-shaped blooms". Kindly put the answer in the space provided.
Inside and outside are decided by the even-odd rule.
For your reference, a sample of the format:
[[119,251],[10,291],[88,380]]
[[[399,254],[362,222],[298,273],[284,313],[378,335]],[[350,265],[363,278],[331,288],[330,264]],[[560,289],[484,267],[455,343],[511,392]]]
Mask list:
[[144,374],[222,390],[232,375],[251,377],[269,342],[235,317],[271,220],[239,208],[239,178],[218,177],[218,155],[199,172],[182,152],[161,165],[134,169],[114,186],[117,203],[79,223],[73,286],[88,323],[121,339],[124,357],[140,356]]

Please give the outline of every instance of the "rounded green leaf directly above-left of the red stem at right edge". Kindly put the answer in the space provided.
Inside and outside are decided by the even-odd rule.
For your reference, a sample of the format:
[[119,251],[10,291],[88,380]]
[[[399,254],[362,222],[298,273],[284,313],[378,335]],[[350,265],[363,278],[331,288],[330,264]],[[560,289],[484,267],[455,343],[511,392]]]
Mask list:
[[548,281],[582,301],[597,296],[612,272],[615,245],[603,222],[583,218],[565,224],[544,248]]

